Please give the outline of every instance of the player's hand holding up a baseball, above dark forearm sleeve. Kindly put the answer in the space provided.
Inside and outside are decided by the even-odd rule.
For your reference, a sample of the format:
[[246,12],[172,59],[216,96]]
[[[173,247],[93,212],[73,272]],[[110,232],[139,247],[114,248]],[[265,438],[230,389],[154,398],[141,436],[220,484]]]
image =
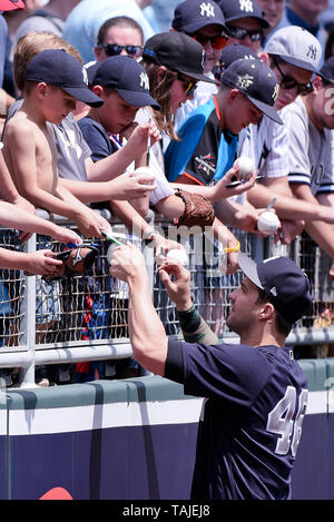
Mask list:
[[180,263],[167,260],[158,268],[161,283],[167,295],[178,311],[187,311],[191,306],[190,273]]

